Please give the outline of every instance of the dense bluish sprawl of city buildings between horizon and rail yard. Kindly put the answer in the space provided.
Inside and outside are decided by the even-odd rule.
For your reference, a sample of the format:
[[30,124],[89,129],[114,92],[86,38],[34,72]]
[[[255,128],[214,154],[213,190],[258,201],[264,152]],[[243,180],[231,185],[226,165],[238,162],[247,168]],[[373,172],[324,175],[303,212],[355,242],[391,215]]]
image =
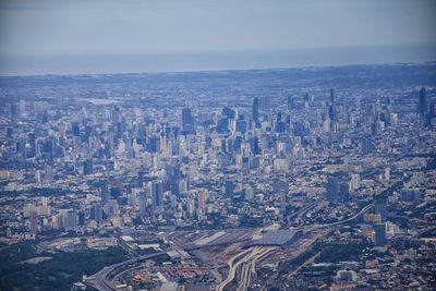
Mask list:
[[[288,277],[280,283],[299,288],[312,280],[314,288],[346,290],[379,280],[378,287],[388,287],[386,256],[404,256],[396,265],[403,271],[416,267],[405,258],[434,250],[395,245],[434,227],[436,94],[432,81],[416,83],[427,76],[423,70],[435,66],[4,83],[1,242],[38,241],[57,231],[93,240],[269,226],[319,231],[317,226],[335,229],[346,221],[350,229],[331,234],[326,227],[318,241],[371,242],[384,258],[372,254],[365,270],[327,262],[337,274],[326,281],[311,276],[329,274],[317,270],[326,268],[318,257],[291,283]],[[350,72],[367,83],[346,77]],[[249,245],[267,239],[253,240]],[[407,283],[425,286],[425,278]]]

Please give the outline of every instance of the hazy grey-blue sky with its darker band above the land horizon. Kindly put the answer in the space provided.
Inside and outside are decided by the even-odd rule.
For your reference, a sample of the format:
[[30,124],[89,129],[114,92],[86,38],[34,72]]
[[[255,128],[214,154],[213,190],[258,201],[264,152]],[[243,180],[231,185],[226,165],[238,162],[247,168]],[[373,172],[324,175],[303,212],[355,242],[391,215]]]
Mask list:
[[0,74],[428,61],[435,14],[434,0],[0,0]]

